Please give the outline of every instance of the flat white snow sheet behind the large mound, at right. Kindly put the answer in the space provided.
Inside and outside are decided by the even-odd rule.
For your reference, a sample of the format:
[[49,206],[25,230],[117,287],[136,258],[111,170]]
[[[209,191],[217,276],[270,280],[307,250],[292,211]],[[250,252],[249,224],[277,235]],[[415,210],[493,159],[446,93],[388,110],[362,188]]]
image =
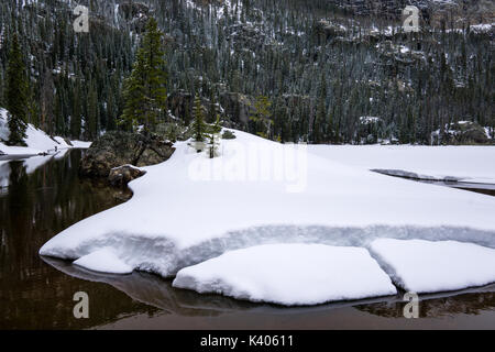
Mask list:
[[363,169],[429,180],[495,184],[495,146],[310,145],[310,153]]

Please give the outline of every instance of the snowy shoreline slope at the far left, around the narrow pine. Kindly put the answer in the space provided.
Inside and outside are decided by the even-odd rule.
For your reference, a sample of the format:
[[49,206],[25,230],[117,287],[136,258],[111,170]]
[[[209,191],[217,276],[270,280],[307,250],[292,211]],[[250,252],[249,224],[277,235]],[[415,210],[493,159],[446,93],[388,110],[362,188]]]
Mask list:
[[7,110],[0,108],[0,154],[8,155],[36,155],[36,154],[54,154],[55,147],[57,151],[70,147],[86,148],[91,145],[89,142],[74,141],[72,145],[59,136],[50,138],[44,131],[36,129],[31,123],[28,124],[26,139],[24,140],[28,146],[9,146],[3,143],[9,139],[9,128],[7,122]]

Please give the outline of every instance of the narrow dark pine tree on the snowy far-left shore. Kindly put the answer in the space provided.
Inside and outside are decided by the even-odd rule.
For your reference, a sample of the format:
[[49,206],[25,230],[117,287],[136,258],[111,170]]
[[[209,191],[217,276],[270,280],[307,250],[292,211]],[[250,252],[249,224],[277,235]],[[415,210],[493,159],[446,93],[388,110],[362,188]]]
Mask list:
[[6,105],[10,130],[9,145],[25,145],[28,116],[28,78],[18,35],[12,37],[7,69]]

